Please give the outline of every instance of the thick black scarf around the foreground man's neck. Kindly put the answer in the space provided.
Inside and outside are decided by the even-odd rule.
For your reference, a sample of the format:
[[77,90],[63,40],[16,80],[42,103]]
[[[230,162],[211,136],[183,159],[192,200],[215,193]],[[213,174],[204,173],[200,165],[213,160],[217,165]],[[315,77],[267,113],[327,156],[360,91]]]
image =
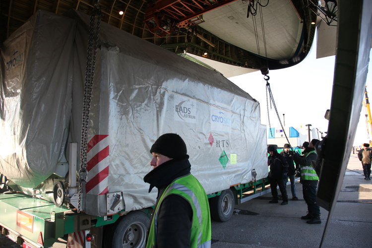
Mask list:
[[150,184],[148,192],[151,192],[153,187],[157,187],[158,191],[164,189],[175,179],[185,176],[190,173],[191,165],[188,162],[188,155],[181,158],[171,159],[159,165],[143,178],[145,183]]

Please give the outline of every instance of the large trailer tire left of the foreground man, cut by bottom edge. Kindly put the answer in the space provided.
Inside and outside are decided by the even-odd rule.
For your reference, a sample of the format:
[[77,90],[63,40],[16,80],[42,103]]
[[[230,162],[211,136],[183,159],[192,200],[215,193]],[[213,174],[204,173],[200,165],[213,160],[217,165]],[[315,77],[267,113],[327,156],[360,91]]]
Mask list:
[[143,248],[150,217],[142,211],[130,212],[106,230],[105,248]]

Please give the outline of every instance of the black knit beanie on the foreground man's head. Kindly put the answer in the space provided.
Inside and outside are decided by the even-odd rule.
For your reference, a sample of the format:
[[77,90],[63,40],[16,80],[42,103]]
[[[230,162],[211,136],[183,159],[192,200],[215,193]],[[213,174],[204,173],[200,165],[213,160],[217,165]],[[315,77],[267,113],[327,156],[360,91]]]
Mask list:
[[176,133],[161,135],[151,146],[150,153],[159,153],[169,158],[181,158],[187,154],[185,141]]

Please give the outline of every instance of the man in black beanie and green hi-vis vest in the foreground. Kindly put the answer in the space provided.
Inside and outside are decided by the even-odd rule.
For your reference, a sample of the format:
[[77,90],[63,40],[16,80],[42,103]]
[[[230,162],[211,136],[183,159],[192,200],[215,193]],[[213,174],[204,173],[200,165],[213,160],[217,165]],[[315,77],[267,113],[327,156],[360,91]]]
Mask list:
[[151,146],[152,159],[144,181],[155,186],[158,197],[146,248],[211,246],[208,198],[203,186],[190,174],[184,140],[175,133],[161,135]]

